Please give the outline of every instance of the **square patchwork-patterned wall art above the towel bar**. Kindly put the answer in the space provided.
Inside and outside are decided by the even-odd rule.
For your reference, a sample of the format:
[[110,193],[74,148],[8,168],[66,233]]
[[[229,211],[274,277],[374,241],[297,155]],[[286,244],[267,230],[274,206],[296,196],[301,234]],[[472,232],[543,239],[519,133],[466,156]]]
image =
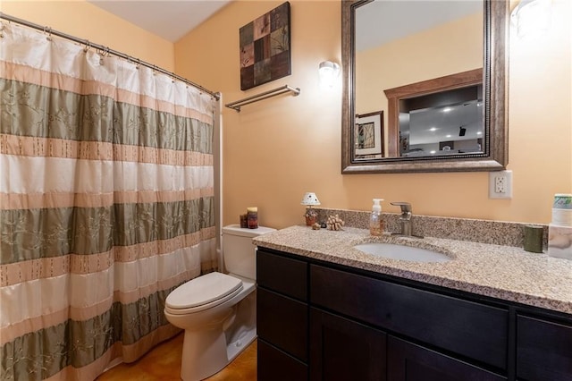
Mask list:
[[240,89],[290,75],[290,3],[240,28]]

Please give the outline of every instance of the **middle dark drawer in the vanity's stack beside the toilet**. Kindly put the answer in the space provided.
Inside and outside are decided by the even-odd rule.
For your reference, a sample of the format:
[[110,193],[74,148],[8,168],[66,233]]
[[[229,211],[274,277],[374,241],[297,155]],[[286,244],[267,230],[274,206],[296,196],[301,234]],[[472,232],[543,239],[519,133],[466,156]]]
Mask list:
[[268,343],[307,361],[307,304],[257,289],[257,334]]

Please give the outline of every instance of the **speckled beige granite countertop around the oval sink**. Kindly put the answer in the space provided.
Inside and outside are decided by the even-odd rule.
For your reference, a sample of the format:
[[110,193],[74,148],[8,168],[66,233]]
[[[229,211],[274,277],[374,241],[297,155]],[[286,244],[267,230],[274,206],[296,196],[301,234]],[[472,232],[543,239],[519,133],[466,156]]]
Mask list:
[[[437,250],[453,260],[409,262],[374,257],[353,248],[356,244],[373,241]],[[353,227],[329,231],[290,226],[258,236],[253,242],[257,246],[307,258],[572,314],[572,261],[552,258],[546,253],[433,237],[372,237],[366,229]]]

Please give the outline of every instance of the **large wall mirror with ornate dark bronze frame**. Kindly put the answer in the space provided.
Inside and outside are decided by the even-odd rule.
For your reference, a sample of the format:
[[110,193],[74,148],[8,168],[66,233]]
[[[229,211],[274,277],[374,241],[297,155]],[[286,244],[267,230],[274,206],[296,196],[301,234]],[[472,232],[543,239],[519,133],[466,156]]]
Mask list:
[[342,0],[341,173],[504,169],[508,19],[508,1]]

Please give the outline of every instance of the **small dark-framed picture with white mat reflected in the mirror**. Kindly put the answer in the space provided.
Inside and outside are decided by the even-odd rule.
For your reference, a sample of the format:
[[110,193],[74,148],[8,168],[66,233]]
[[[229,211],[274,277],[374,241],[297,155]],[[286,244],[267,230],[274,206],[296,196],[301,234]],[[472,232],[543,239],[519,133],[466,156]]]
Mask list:
[[383,111],[356,114],[354,147],[358,160],[383,157]]

